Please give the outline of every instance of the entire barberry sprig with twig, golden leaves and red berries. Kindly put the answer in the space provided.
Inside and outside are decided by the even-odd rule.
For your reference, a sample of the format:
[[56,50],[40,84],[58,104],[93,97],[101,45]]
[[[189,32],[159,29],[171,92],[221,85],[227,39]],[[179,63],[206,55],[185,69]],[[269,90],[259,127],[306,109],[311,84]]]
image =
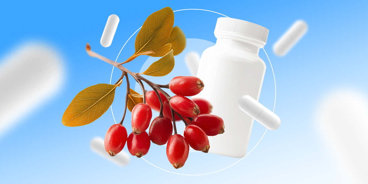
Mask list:
[[[61,121],[63,125],[82,126],[101,117],[113,103],[115,89],[123,83],[125,77],[127,93],[123,117],[120,123],[113,124],[105,135],[105,150],[110,156],[118,154],[124,148],[125,142],[131,155],[138,158],[148,153],[151,141],[157,145],[167,143],[167,158],[178,169],[184,166],[188,158],[189,146],[207,153],[210,148],[207,136],[222,134],[224,122],[222,118],[210,114],[212,106],[205,99],[190,100],[185,97],[201,92],[204,88],[203,81],[197,77],[180,76],[173,78],[167,85],[159,85],[142,77],[142,75],[161,77],[173,70],[174,56],[180,54],[186,44],[183,31],[173,25],[174,12],[170,7],[149,15],[135,39],[135,53],[122,63],[100,56],[93,52],[87,43],[86,51],[89,56],[112,64],[119,68],[122,74],[113,85],[97,84],[79,92],[64,112]],[[131,72],[123,67],[123,64],[141,55],[162,58],[141,73]],[[141,86],[142,94],[130,88],[128,74]],[[153,91],[146,92],[142,81]],[[170,97],[162,88],[168,88],[176,95]],[[127,109],[132,113],[132,132],[129,136],[123,126]],[[160,114],[149,126],[152,118],[151,109],[159,111]],[[184,137],[177,134],[176,120],[182,120],[185,124]]]

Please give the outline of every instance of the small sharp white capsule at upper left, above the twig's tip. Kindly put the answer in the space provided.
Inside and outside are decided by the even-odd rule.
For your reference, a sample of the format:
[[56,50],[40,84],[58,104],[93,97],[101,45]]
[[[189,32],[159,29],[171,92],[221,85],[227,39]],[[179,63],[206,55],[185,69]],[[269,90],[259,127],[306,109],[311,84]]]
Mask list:
[[113,42],[113,38],[119,21],[119,17],[115,14],[112,14],[109,16],[109,18],[107,18],[105,29],[103,29],[100,40],[100,43],[103,47],[109,47]]

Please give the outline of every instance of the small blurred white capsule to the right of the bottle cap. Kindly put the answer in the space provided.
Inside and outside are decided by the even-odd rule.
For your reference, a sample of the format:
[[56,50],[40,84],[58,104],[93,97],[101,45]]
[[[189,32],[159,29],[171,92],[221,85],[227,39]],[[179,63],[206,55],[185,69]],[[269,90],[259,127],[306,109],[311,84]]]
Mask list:
[[302,20],[294,22],[293,25],[281,36],[273,45],[273,53],[277,56],[284,56],[289,50],[304,36],[308,30],[308,25]]

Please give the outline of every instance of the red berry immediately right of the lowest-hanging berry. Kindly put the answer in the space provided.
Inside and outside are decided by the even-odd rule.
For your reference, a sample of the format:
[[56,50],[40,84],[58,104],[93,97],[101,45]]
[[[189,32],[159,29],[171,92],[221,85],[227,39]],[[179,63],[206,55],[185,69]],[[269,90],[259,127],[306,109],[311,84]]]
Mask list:
[[209,141],[206,132],[197,125],[188,125],[184,129],[184,138],[194,150],[208,153]]

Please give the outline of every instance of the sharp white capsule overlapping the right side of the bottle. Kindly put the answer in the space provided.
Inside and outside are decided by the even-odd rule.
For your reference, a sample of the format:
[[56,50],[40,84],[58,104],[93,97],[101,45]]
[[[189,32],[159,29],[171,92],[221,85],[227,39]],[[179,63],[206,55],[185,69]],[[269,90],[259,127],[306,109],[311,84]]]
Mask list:
[[257,102],[249,95],[241,96],[238,100],[239,109],[248,114],[254,120],[269,130],[276,130],[280,127],[281,120],[279,116],[267,109],[261,103]]

